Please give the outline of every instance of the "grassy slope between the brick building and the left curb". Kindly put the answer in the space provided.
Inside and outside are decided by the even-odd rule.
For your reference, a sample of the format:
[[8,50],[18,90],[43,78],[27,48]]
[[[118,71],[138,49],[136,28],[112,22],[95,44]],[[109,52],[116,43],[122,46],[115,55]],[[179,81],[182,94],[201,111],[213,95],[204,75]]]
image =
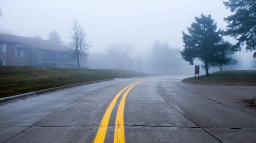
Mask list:
[[61,69],[0,66],[0,98],[81,82],[139,77],[145,74],[111,69]]

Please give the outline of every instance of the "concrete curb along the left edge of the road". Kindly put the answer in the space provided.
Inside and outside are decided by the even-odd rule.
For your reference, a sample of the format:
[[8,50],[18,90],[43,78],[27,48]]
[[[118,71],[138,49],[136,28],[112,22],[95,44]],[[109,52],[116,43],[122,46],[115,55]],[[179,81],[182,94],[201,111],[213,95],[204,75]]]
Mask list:
[[31,96],[37,96],[39,94],[43,94],[43,93],[47,93],[47,92],[53,92],[53,91],[57,91],[57,90],[77,87],[79,85],[92,84],[92,83],[103,82],[103,81],[110,81],[110,80],[114,80],[114,79],[96,80],[96,81],[90,81],[90,82],[70,84],[70,85],[64,85],[64,86],[61,86],[61,87],[55,87],[55,88],[50,88],[50,89],[44,89],[44,90],[39,90],[39,91],[34,91],[34,92],[29,92],[29,93],[24,93],[24,94],[19,94],[19,95],[15,95],[15,96],[11,96],[11,97],[0,98],[0,104],[11,102],[11,101],[18,100],[18,99],[23,99],[23,98],[31,97]]

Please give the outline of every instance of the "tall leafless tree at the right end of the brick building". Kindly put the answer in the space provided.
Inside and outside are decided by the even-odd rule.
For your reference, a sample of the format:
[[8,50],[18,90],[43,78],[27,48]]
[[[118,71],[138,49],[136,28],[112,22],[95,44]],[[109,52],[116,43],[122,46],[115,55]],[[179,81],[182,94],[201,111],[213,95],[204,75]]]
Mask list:
[[83,60],[83,58],[87,57],[90,50],[90,45],[83,27],[78,23],[78,19],[74,19],[72,21],[70,34],[71,42],[69,45],[76,56],[77,67],[80,69],[81,67],[79,60]]

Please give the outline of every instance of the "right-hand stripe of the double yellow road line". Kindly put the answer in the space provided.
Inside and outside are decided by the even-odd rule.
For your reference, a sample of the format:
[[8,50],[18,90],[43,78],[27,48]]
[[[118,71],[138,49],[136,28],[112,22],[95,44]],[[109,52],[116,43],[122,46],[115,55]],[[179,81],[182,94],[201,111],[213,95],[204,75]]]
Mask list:
[[132,90],[133,87],[135,87],[137,84],[142,83],[144,81],[140,81],[138,83],[135,83],[130,87],[124,94],[123,97],[119,103],[117,114],[116,114],[116,124],[115,124],[115,135],[114,135],[114,142],[125,142],[124,138],[124,123],[123,123],[123,112],[124,112],[124,105],[125,105],[125,99],[127,97],[127,94]]

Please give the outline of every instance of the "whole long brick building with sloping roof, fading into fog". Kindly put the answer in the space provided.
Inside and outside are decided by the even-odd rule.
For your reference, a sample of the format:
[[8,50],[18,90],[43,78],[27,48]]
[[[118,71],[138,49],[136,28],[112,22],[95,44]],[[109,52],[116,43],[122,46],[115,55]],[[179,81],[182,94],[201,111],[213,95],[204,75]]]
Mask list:
[[9,34],[0,34],[0,65],[77,68],[67,46]]

